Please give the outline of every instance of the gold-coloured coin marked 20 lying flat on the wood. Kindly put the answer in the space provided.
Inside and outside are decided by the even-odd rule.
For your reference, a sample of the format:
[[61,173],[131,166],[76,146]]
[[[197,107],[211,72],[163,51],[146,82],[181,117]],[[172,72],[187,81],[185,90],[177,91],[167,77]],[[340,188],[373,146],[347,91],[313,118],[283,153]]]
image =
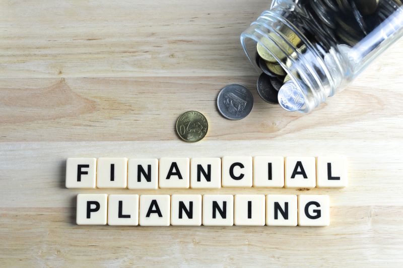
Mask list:
[[182,113],[176,121],[176,132],[185,142],[200,141],[206,136],[208,129],[209,123],[206,117],[197,111]]

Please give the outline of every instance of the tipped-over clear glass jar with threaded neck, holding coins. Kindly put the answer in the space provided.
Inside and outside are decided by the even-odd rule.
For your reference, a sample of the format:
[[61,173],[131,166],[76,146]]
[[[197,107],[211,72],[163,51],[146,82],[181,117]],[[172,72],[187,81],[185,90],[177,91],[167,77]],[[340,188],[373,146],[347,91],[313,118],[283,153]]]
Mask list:
[[291,78],[278,93],[280,105],[310,112],[402,34],[400,0],[274,0],[241,43],[256,70],[256,53],[266,53],[266,63],[280,64]]

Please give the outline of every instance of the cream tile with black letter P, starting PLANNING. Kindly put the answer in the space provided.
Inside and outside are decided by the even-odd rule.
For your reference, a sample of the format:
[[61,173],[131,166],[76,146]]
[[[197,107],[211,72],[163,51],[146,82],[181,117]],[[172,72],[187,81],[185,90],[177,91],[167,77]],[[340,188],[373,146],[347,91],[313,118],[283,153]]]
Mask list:
[[103,193],[77,194],[78,225],[105,225],[108,211],[108,195]]

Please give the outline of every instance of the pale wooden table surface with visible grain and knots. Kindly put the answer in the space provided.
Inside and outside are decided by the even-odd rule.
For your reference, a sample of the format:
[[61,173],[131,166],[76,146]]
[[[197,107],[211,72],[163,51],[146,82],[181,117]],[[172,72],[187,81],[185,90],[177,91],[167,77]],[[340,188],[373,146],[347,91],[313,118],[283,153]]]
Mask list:
[[[117,2],[117,3],[116,3]],[[240,33],[265,0],[0,2],[0,265],[384,266],[403,264],[403,40],[313,113],[259,99]],[[219,90],[246,85],[248,117],[224,119]],[[187,144],[176,118],[198,110]],[[345,189],[74,190],[68,157],[332,155]],[[331,224],[111,227],[75,224],[77,193],[328,194]]]

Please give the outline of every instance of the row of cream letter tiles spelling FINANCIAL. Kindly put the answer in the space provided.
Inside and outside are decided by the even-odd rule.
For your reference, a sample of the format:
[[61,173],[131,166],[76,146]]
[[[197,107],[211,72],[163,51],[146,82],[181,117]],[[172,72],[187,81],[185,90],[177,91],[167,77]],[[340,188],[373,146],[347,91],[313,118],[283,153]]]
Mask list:
[[67,188],[345,187],[344,157],[69,158]]

